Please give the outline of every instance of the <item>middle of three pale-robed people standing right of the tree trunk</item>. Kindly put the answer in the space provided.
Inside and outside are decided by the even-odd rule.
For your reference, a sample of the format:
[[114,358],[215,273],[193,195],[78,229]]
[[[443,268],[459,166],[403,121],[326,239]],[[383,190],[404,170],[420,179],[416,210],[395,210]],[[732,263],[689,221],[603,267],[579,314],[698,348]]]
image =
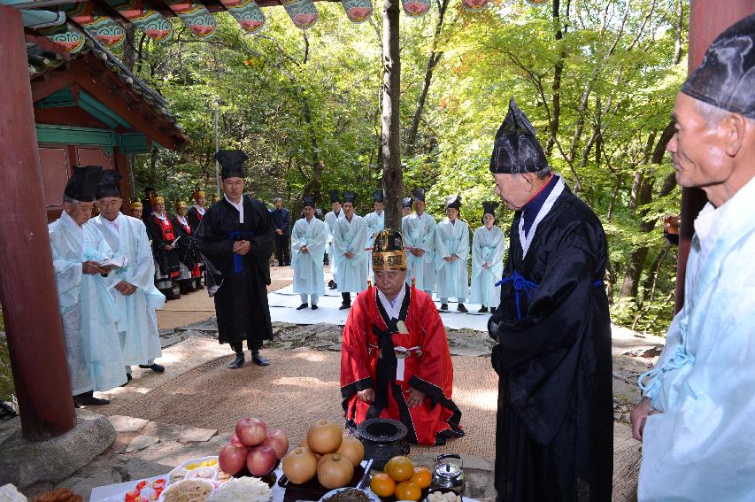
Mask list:
[[461,197],[446,197],[446,219],[435,227],[435,280],[441,311],[448,311],[448,299],[456,297],[456,310],[466,313],[464,302],[469,294],[469,225],[458,219]]

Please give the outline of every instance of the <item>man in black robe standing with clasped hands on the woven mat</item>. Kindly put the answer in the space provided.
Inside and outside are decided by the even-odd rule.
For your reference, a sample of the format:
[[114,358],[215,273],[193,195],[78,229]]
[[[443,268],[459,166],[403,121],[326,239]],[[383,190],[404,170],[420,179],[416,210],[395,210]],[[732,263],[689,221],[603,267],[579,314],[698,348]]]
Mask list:
[[223,167],[225,196],[213,204],[199,228],[196,241],[209,272],[207,290],[215,299],[220,344],[228,343],[236,353],[229,366],[243,365],[243,340],[258,366],[270,361],[259,353],[263,340],[273,338],[267,285],[270,284],[270,255],[273,252],[273,223],[265,205],[243,195],[243,151],[223,150],[215,154]]

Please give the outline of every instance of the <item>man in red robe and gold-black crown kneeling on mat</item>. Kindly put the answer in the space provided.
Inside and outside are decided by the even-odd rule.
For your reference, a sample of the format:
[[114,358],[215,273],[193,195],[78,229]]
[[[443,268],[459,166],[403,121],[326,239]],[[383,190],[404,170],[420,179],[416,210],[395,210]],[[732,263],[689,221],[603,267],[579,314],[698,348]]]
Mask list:
[[343,329],[341,394],[350,427],[382,417],[401,421],[407,439],[445,444],[464,436],[451,400],[453,365],[445,328],[427,293],[406,284],[397,230],[375,238],[375,287],[359,293]]

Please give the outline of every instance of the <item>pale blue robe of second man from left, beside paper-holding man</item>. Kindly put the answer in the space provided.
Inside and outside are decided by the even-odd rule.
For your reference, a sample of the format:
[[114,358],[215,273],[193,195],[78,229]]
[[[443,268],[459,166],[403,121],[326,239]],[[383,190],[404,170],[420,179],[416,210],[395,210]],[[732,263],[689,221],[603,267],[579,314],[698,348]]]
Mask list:
[[112,284],[111,294],[118,305],[118,332],[127,366],[147,364],[162,355],[155,310],[162,308],[166,297],[155,287],[155,260],[150,238],[142,220],[125,214],[116,218],[118,230],[102,215],[87,223],[96,227],[112,251],[126,257],[126,266],[114,271],[115,277],[136,287],[134,294],[121,295]]

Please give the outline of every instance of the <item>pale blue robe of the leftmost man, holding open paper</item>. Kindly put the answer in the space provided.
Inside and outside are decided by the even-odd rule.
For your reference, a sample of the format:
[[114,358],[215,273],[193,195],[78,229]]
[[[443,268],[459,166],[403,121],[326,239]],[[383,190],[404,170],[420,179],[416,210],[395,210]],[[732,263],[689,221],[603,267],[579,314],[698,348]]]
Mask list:
[[79,227],[65,211],[48,231],[71,390],[73,395],[111,390],[126,382],[119,312],[110,294],[117,279],[112,273],[84,274],[82,264],[112,258],[112,250],[96,227]]

